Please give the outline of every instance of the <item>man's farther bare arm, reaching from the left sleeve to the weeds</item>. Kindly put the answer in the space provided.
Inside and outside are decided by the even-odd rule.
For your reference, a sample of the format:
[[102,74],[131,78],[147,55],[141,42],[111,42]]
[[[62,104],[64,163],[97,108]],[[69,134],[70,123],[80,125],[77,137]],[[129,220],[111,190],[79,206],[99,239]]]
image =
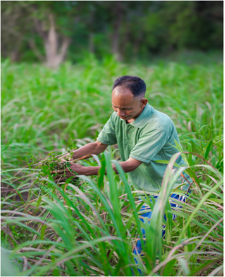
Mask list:
[[[88,159],[91,157],[91,155],[98,155],[102,153],[106,147],[107,144],[103,144],[100,141],[90,142],[88,144],[85,144],[84,146],[81,146],[80,148],[73,150],[73,159],[80,159],[84,157],[85,159]],[[66,158],[68,154],[64,155],[62,158]]]

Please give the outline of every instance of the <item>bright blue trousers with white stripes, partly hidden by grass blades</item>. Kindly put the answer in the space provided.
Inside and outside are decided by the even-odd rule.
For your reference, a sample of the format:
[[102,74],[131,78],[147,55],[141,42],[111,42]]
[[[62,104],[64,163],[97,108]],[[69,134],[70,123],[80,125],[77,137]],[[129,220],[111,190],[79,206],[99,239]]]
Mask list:
[[[188,194],[187,194],[187,196],[188,196]],[[185,202],[186,198],[187,198],[187,197],[179,195],[179,194],[172,194],[170,197],[174,198],[174,199],[177,199],[177,200],[180,200],[180,201],[183,201],[183,202]],[[158,196],[154,195],[154,198],[157,199]],[[139,200],[141,200],[141,199],[139,198]],[[152,202],[151,198],[150,198],[150,201]],[[140,211],[142,211],[142,210],[150,210],[150,211],[147,212],[147,213],[143,213],[141,216],[142,217],[147,217],[148,219],[150,219],[152,217],[152,210],[151,210],[150,207],[145,206],[145,205],[146,204],[144,204],[141,207]],[[170,202],[170,206],[171,206],[172,210],[173,210],[173,208],[180,208],[180,207],[182,207],[182,206],[176,205],[175,203],[172,203],[172,202]],[[175,218],[176,218],[176,215],[173,214],[173,220]],[[164,214],[164,219],[165,219],[165,221],[167,220],[165,214]],[[142,222],[144,222],[143,218],[140,218],[140,220]],[[145,238],[145,230],[143,228],[141,228],[141,233],[143,234],[143,238]],[[162,230],[162,237],[164,237],[164,236],[165,236],[165,229]],[[138,236],[138,238],[140,238],[140,236]],[[137,252],[138,252],[138,254],[141,254],[141,252],[142,252],[142,247],[141,247],[141,241],[140,240],[137,241],[136,249],[134,249],[134,251],[133,251],[134,254],[137,254]],[[137,259],[135,259],[135,264],[138,264]],[[138,271],[141,273],[141,270],[139,268],[138,268]]]

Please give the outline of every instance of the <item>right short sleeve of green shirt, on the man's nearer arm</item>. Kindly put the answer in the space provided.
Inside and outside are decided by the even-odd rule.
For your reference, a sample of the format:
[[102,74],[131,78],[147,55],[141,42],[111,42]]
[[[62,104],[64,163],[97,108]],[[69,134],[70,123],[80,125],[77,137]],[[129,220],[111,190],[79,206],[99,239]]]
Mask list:
[[141,162],[150,162],[166,144],[168,139],[169,135],[165,130],[158,128],[149,131],[143,130],[129,156]]

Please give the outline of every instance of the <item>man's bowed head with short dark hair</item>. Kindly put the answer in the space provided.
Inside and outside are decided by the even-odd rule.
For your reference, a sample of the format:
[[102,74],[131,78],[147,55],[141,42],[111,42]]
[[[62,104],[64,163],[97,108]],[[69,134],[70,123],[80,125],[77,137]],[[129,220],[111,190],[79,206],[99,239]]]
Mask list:
[[121,76],[112,90],[112,106],[117,115],[131,122],[141,114],[148,100],[144,98],[145,82],[136,76]]

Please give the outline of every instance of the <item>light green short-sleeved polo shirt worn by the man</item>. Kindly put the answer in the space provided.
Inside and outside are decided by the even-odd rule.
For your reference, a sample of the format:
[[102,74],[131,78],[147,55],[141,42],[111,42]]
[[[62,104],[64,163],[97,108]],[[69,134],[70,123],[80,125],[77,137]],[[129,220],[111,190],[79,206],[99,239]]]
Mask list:
[[[160,189],[167,166],[155,161],[170,160],[178,152],[172,146],[175,145],[173,138],[179,142],[176,127],[170,117],[147,103],[141,114],[129,124],[114,112],[97,140],[107,145],[117,143],[122,161],[129,157],[141,161],[138,168],[127,173],[129,180],[136,190],[155,192]],[[176,162],[185,164],[181,156]],[[179,180],[174,188],[178,185]]]

